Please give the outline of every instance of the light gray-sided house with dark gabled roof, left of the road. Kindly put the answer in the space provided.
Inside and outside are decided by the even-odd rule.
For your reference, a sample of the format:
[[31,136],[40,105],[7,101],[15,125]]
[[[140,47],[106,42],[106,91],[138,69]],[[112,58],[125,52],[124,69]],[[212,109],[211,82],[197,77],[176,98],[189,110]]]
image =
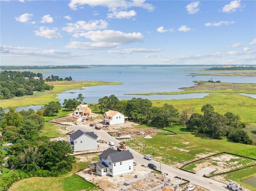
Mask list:
[[97,149],[97,138],[94,132],[77,130],[69,136],[70,147],[74,152]]

